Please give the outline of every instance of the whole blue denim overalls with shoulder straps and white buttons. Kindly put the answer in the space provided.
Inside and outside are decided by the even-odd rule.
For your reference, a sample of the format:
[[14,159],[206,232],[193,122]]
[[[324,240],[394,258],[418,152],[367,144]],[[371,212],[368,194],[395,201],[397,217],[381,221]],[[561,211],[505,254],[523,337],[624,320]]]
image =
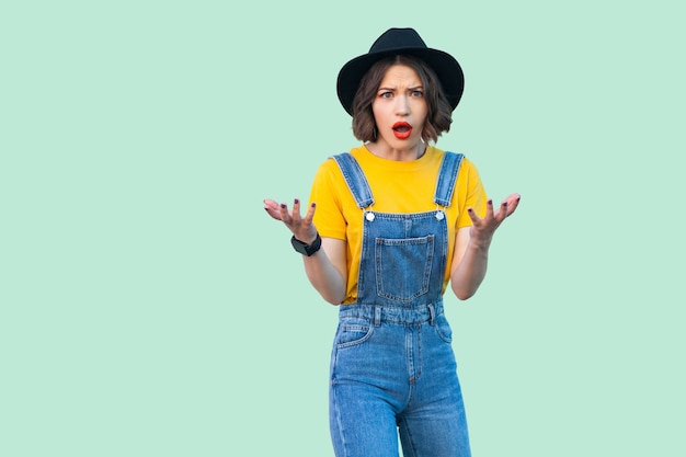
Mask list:
[[425,213],[373,210],[357,161],[334,156],[364,219],[357,301],[341,305],[331,357],[338,457],[468,457],[465,408],[443,312],[449,206],[461,155],[445,152]]

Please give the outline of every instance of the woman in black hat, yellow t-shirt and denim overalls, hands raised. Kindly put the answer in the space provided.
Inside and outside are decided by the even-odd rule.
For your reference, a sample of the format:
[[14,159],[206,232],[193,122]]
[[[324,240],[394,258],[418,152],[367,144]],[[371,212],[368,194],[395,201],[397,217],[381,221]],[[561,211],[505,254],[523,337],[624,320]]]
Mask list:
[[323,162],[305,216],[265,199],[293,232],[312,286],[340,305],[331,358],[336,456],[469,456],[448,284],[478,289],[489,245],[519,195],[498,210],[475,165],[437,149],[464,88],[455,58],[412,28],[390,28],[339,73],[338,94],[363,141]]

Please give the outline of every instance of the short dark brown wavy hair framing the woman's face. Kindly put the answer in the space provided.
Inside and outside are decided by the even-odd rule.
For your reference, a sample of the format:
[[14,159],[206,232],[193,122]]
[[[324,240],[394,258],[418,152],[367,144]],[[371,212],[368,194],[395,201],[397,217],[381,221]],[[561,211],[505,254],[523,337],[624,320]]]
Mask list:
[[421,59],[408,55],[386,57],[375,62],[365,73],[353,99],[353,134],[361,141],[374,141],[377,136],[371,103],[377,96],[386,71],[393,65],[405,65],[416,71],[424,87],[427,114],[422,129],[425,142],[436,142],[444,132],[450,130],[453,108],[446,99],[434,70]]

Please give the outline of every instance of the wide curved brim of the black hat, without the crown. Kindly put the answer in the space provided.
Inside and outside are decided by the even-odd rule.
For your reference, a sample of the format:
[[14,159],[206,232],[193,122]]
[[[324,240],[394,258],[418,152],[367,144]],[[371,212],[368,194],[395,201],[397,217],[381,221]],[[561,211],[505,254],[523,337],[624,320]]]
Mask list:
[[355,98],[355,93],[357,92],[357,88],[359,88],[363,77],[369,68],[385,57],[397,55],[418,57],[428,65],[436,73],[438,81],[441,81],[443,92],[448,99],[450,107],[453,110],[457,107],[462,96],[462,91],[465,90],[465,75],[455,57],[438,49],[404,48],[365,54],[355,57],[341,68],[336,81],[336,92],[339,94],[339,101],[347,114],[353,115],[353,99]]

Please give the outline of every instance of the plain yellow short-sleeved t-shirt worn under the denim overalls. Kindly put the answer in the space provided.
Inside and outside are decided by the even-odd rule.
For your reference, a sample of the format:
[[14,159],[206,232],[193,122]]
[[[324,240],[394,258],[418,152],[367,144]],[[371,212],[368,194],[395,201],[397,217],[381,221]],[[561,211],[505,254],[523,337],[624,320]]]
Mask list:
[[[362,168],[374,196],[370,208],[378,213],[423,213],[437,208],[434,193],[444,151],[428,146],[418,160],[400,162],[376,157],[365,146],[350,151]],[[323,162],[312,183],[310,203],[317,203],[315,226],[324,238],[347,242],[347,294],[343,304],[355,302],[362,252],[363,209],[357,207],[335,160]],[[448,259],[445,292],[450,278],[450,261],[458,228],[471,226],[467,213],[472,207],[485,214],[487,195],[477,168],[462,159],[450,206],[444,208],[448,224]]]

